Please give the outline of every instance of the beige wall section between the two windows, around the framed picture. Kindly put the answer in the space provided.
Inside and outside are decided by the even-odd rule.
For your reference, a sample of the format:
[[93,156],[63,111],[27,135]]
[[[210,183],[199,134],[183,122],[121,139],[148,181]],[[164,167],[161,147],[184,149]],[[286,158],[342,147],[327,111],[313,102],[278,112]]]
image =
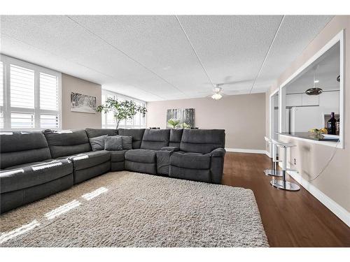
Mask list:
[[71,112],[71,92],[96,96],[101,105],[101,85],[62,73],[62,129],[101,128],[101,113]]

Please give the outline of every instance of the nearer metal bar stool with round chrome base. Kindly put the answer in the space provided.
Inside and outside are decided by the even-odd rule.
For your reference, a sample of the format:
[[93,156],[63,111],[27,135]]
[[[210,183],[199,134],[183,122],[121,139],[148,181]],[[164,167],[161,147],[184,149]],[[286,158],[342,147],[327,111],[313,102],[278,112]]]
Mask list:
[[[282,161],[282,180],[271,180],[269,182],[272,184],[272,186],[276,187],[277,189],[283,189],[288,191],[298,191],[300,187],[292,182],[288,182],[286,180],[286,171],[296,171],[287,168],[287,148],[288,147],[295,147],[295,145],[290,143],[284,143],[282,141],[277,141],[272,139],[272,143],[274,143],[277,147],[280,147],[283,150],[283,161]],[[296,171],[297,172],[297,171]]]

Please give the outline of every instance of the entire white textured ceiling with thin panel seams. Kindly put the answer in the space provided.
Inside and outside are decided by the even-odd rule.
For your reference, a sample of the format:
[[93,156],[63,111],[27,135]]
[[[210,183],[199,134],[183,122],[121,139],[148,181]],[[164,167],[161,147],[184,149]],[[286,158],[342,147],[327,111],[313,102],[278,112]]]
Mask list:
[[[332,16],[178,18],[211,82],[228,82],[225,94],[249,94],[269,89]],[[1,53],[144,101],[208,96],[213,87],[179,21],[170,15],[1,15]]]

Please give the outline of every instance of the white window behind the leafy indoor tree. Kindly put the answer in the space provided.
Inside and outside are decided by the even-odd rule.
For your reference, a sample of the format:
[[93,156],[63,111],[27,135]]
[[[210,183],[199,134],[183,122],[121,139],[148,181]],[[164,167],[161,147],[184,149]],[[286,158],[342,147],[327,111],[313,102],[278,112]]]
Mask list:
[[[108,96],[108,95],[115,96],[116,99],[132,100],[132,101],[134,101],[134,102],[136,102],[136,103],[141,103],[142,105],[144,105],[144,106],[146,107],[146,101],[142,101],[142,100],[139,100],[139,99],[134,99],[134,98],[131,97],[131,96],[125,96],[125,95],[123,95],[123,94],[118,94],[118,93],[116,93],[116,92],[113,92],[113,91],[110,91],[110,90],[107,90],[107,89],[103,89],[103,88],[102,88],[102,97],[103,97],[103,96],[106,97],[106,96]],[[102,103],[104,103],[104,100],[103,100],[103,99],[102,99]],[[142,119],[142,118],[143,118],[143,117],[141,117],[141,115],[140,115],[140,123],[141,123],[141,119]],[[135,124],[135,119],[134,119],[134,118],[132,119],[132,122],[133,122],[132,125],[130,125],[130,124],[127,125],[127,120],[123,120],[123,121],[120,122],[118,128],[121,128],[121,129],[145,129],[145,128],[146,128],[146,115],[145,115],[145,117],[144,117],[144,124],[136,125],[136,124]],[[108,126],[108,124],[107,124],[107,114],[104,114],[104,113],[102,113],[102,128],[104,128],[104,129],[109,129],[109,128],[111,128],[111,126]],[[116,128],[116,125],[113,126],[113,128],[115,129],[115,128]]]

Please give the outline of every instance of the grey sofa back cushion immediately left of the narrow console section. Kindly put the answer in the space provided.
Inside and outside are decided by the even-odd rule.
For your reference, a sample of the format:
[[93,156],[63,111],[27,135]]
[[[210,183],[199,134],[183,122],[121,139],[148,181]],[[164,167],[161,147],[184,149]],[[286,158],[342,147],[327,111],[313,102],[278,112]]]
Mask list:
[[169,146],[170,129],[146,129],[141,149],[160,150]]

